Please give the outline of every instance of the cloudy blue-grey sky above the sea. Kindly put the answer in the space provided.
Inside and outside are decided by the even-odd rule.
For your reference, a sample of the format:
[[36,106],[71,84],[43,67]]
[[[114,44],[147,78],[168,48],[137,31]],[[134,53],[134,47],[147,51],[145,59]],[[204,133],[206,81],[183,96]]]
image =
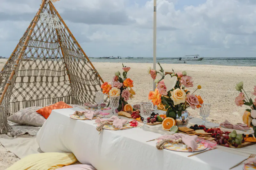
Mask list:
[[[9,56],[41,0],[0,0],[0,55]],[[152,56],[153,0],[54,3],[88,56]],[[157,0],[157,56],[254,57],[255,0]]]

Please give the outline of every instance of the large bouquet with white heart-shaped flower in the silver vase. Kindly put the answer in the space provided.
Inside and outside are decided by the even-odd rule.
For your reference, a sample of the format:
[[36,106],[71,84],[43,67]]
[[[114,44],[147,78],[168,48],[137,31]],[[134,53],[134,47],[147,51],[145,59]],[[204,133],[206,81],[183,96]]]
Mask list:
[[[198,85],[194,92],[188,91],[186,88],[193,87],[194,82],[192,77],[187,75],[186,71],[173,73],[170,75],[164,75],[164,70],[158,62],[161,70],[156,71],[148,68],[148,73],[155,80],[156,89],[148,94],[148,100],[151,100],[154,105],[157,105],[163,110],[166,110],[166,117],[172,117],[176,119],[181,116],[182,111],[185,111],[188,107],[193,109],[201,107],[203,100],[201,96],[196,96],[194,92],[197,89],[201,89]],[[156,75],[160,74],[161,79],[156,79]]]

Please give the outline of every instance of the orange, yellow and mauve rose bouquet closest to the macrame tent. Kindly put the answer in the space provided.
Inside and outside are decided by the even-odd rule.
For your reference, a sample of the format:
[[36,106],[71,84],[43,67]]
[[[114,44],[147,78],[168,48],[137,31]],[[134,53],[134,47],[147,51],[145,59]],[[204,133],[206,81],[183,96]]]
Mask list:
[[132,89],[133,81],[127,78],[127,73],[130,69],[131,67],[126,67],[123,64],[123,78],[121,77],[121,73],[117,71],[112,82],[105,82],[100,86],[102,92],[108,94],[108,96],[120,96],[118,111],[122,111],[124,105],[128,104],[127,101],[134,98],[133,95],[136,94]]

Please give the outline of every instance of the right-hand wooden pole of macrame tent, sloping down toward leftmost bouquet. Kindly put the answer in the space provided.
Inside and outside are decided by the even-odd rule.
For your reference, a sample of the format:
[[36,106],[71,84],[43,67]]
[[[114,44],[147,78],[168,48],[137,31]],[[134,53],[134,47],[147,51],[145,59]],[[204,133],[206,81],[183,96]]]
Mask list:
[[[69,30],[68,26],[66,25],[66,23],[64,22],[63,18],[61,18],[59,12],[56,10],[56,8],[54,7],[54,5],[52,4],[51,1],[49,1],[49,4],[51,5],[52,9],[55,11],[55,13],[57,14],[57,16],[60,18],[60,21],[62,22],[62,24],[65,26],[65,28],[67,29],[69,35],[73,38],[73,40],[75,41],[76,45],[78,46],[79,50],[82,51],[82,53],[84,54],[85,58],[87,59],[87,61],[91,64],[93,70],[95,71],[95,73],[97,74],[98,71],[95,69],[95,67],[93,66],[92,62],[89,60],[89,58],[87,57],[87,55],[85,54],[83,48],[80,46],[80,44],[76,41],[76,38],[74,37],[74,35],[71,33],[71,31]],[[100,77],[100,74],[97,74],[98,77],[100,78],[101,82],[104,83],[103,79]]]

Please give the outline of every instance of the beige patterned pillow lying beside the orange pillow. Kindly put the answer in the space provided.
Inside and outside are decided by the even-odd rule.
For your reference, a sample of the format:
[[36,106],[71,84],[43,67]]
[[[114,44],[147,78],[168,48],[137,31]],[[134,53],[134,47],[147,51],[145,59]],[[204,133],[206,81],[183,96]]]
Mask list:
[[14,123],[29,125],[29,126],[43,126],[46,119],[44,116],[36,112],[36,110],[42,107],[27,107],[21,109],[17,113],[11,115],[8,120]]

